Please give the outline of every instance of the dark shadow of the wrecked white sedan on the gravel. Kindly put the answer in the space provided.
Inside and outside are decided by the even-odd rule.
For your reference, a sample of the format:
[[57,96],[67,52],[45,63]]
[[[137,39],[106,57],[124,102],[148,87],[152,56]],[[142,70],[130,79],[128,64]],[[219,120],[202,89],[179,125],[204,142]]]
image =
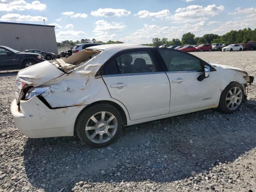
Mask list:
[[46,192],[70,191],[80,181],[173,182],[254,148],[255,115],[256,101],[250,100],[234,114],[212,109],[128,126],[99,149],[76,137],[27,139],[25,171]]

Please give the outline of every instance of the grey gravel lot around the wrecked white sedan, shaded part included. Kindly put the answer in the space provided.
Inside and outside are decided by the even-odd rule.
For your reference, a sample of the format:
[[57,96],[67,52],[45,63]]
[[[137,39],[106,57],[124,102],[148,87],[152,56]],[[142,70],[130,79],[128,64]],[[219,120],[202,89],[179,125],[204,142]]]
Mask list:
[[[256,76],[256,51],[196,52]],[[123,129],[106,148],[29,139],[10,113],[18,71],[0,72],[0,192],[256,191],[256,86],[235,114],[215,109]]]

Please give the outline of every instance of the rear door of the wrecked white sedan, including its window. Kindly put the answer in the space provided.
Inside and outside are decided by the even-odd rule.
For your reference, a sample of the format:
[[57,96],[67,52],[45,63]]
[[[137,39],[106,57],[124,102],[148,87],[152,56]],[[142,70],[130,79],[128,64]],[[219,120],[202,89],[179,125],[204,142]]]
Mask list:
[[152,48],[118,53],[102,70],[111,97],[124,104],[130,120],[169,113],[169,80],[160,70]]

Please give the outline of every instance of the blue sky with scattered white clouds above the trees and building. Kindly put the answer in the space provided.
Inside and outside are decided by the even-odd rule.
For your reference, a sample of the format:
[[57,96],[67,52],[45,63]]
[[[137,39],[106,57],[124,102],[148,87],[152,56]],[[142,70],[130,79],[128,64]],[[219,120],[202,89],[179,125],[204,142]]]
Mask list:
[[256,28],[256,0],[0,0],[0,21],[55,25],[57,42],[142,44]]

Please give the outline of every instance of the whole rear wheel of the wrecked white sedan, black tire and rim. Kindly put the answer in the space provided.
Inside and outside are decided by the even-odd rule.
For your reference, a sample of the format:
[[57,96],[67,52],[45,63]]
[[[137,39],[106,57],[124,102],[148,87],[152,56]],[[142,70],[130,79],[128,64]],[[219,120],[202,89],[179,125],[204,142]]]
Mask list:
[[[110,118],[113,119],[108,122]],[[96,104],[78,115],[75,130],[81,142],[100,148],[116,140],[121,133],[122,124],[122,116],[116,108],[110,104]]]

